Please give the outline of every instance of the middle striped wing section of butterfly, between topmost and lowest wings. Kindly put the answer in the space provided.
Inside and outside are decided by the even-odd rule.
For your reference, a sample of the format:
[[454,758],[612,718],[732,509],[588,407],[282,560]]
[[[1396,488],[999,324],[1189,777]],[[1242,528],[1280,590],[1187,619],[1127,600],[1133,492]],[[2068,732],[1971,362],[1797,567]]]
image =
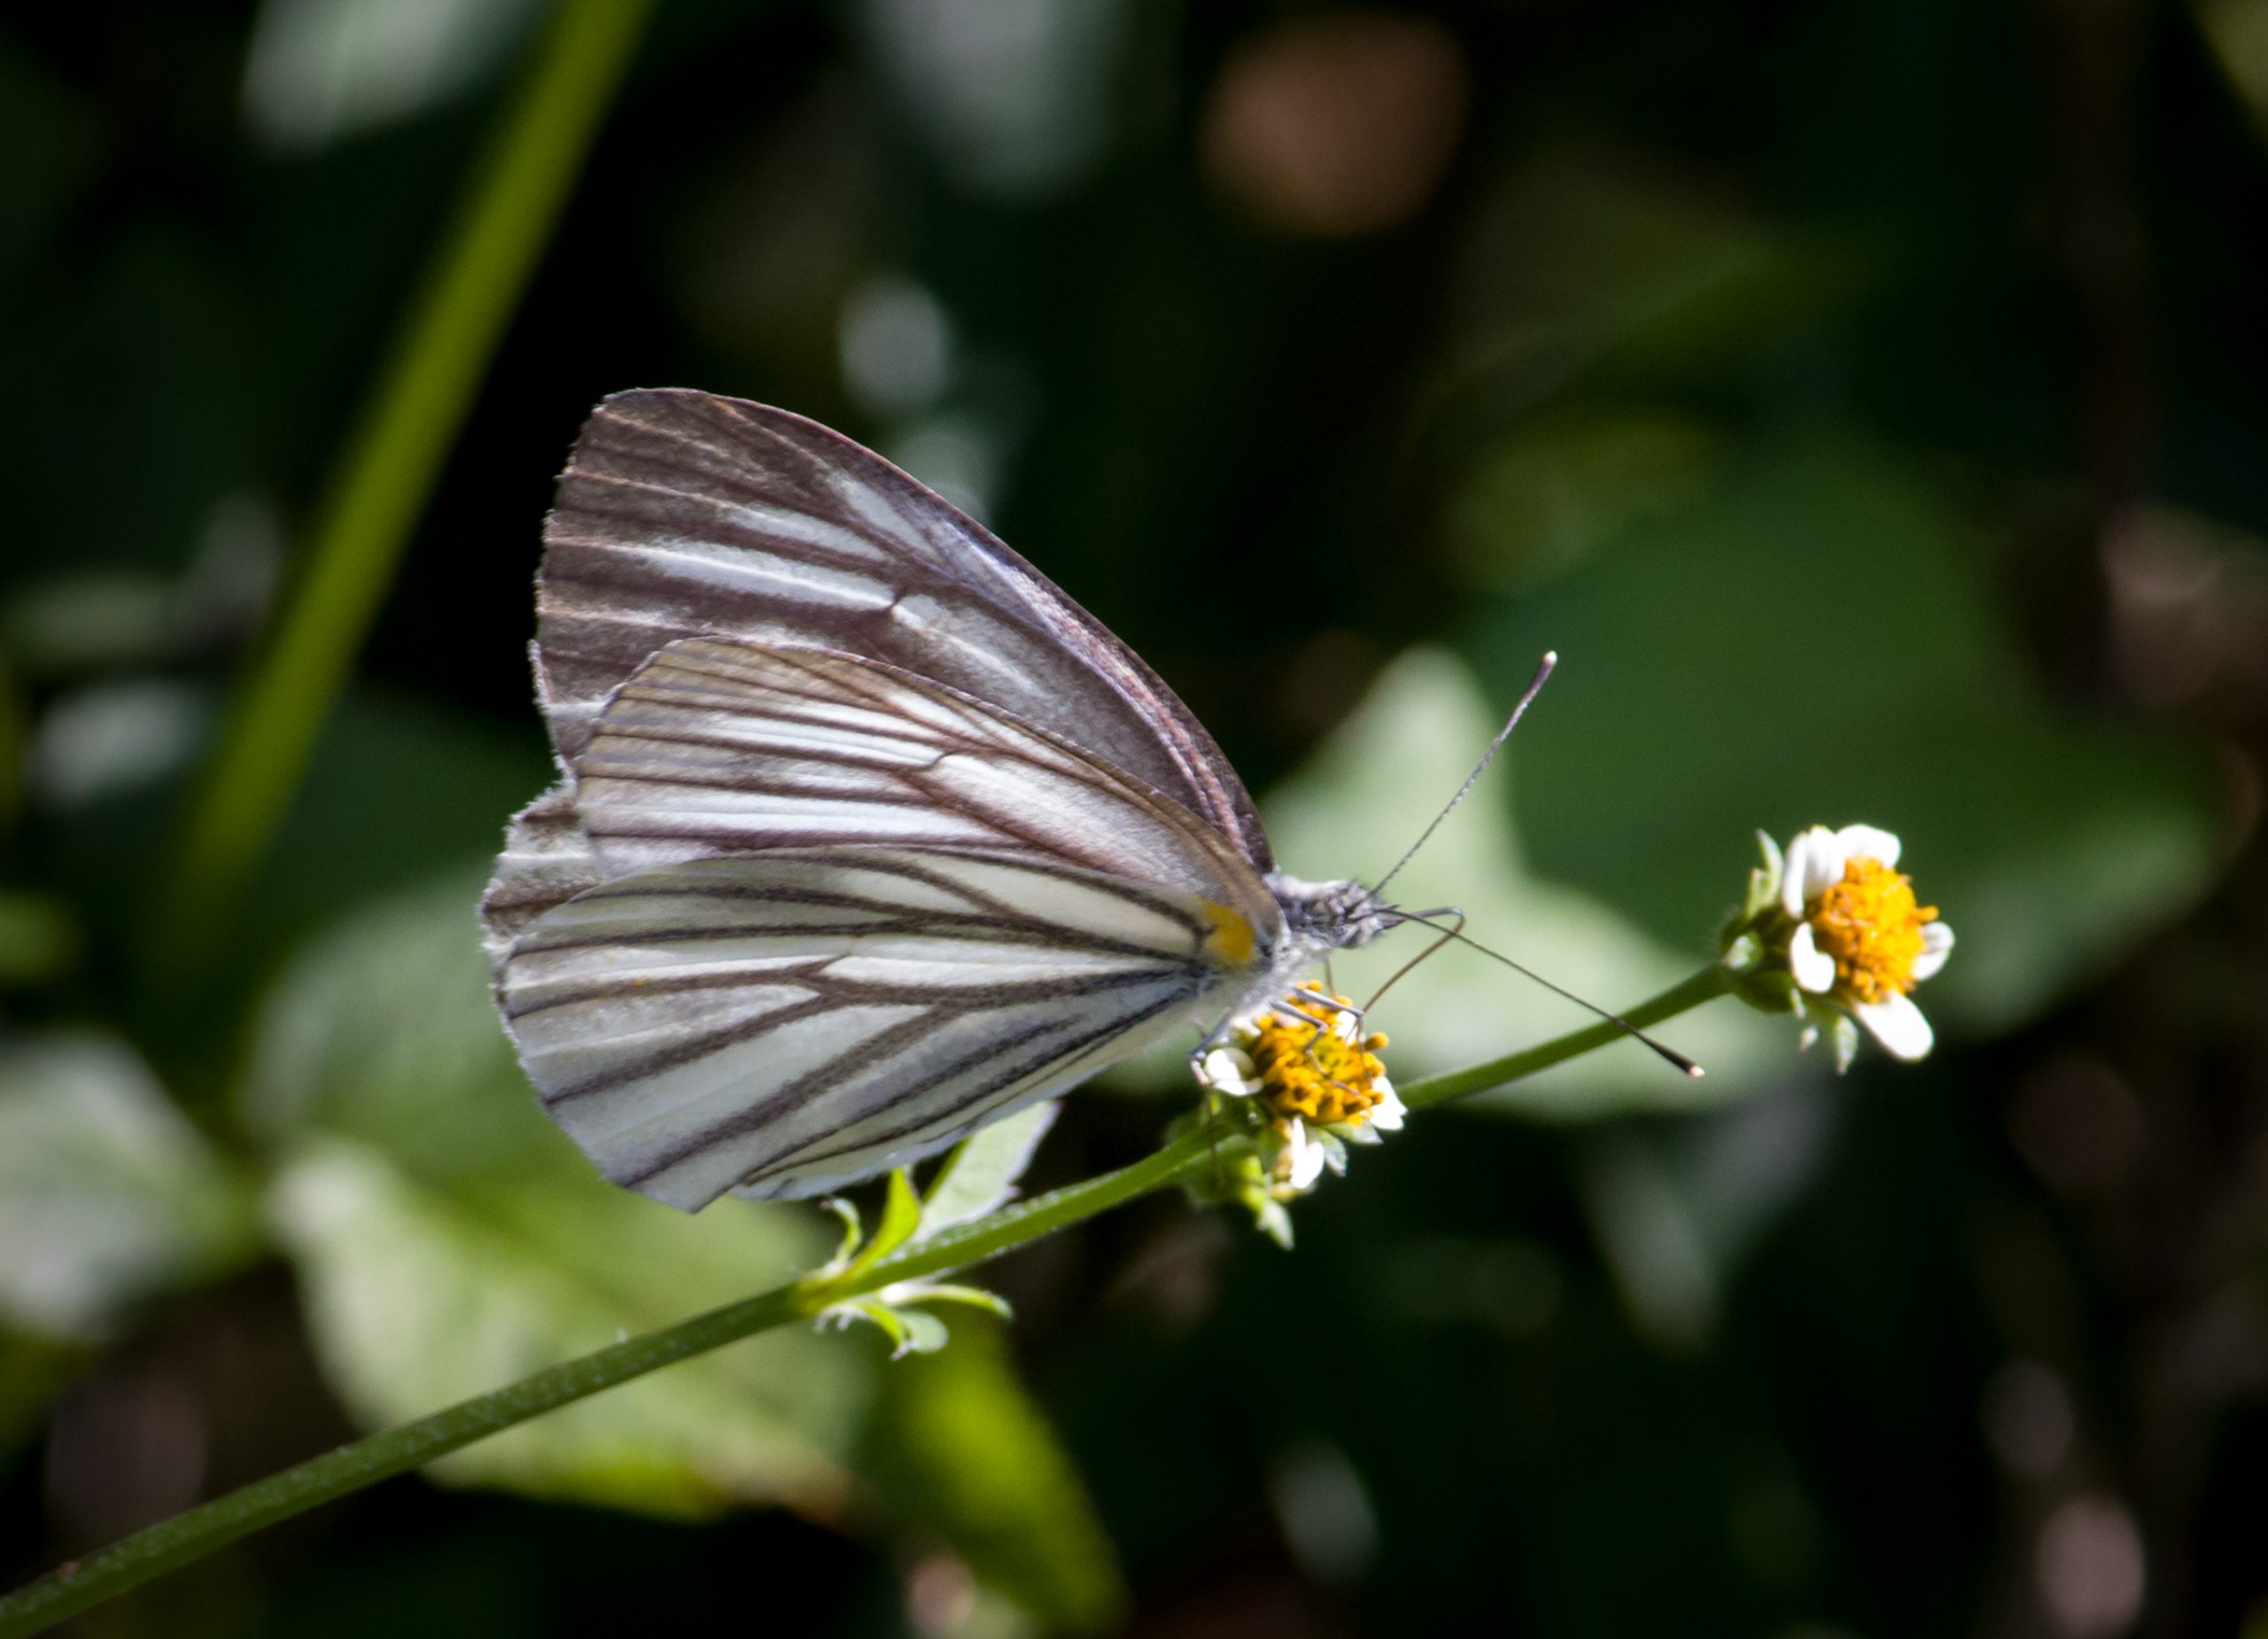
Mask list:
[[574,762],[610,877],[826,843],[987,848],[1275,902],[1204,821],[1012,714],[853,655],[680,639],[615,694]]

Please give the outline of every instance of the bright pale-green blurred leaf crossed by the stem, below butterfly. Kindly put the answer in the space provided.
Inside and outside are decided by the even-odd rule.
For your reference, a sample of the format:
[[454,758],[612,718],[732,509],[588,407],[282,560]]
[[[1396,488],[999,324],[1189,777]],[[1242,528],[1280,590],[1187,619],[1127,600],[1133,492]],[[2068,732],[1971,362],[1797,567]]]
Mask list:
[[[440,1188],[308,1140],[270,1199],[324,1374],[370,1426],[776,1283],[819,1251],[792,1208],[687,1217],[596,1177]],[[705,1517],[832,1514],[871,1392],[841,1337],[776,1331],[578,1401],[433,1464],[454,1485]]]

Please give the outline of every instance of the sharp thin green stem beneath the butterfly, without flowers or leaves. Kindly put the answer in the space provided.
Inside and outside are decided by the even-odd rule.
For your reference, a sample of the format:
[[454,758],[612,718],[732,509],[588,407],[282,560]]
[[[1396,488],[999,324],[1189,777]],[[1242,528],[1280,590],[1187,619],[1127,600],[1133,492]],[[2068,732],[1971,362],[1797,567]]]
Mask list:
[[[1633,1007],[1624,1018],[1633,1025],[1658,1025],[1674,1013],[1724,995],[1724,991],[1726,984],[1719,970],[1706,968],[1685,984],[1662,991],[1651,1002]],[[1579,1029],[1472,1070],[1424,1077],[1402,1088],[1402,1099],[1411,1106],[1424,1106],[1481,1093],[1574,1059],[1592,1047],[1603,1047],[1619,1038],[1619,1034],[1613,1025]],[[721,1349],[753,1333],[810,1319],[846,1297],[878,1292],[898,1281],[914,1281],[948,1269],[966,1269],[1002,1251],[1025,1247],[1095,1213],[1107,1213],[1114,1206],[1161,1190],[1207,1165],[1211,1154],[1213,1145],[1207,1133],[1184,1133],[1129,1167],[1118,1167],[1116,1172],[1105,1172],[1027,1201],[1012,1201],[975,1222],[957,1224],[928,1240],[907,1242],[853,1276],[835,1281],[807,1279],[760,1292],[739,1303],[712,1308],[705,1315],[694,1315],[662,1331],[651,1331],[610,1349],[547,1367],[519,1383],[460,1401],[413,1424],[367,1435],[284,1474],[254,1480],[243,1489],[159,1521],[100,1553],[57,1566],[36,1582],[0,1598],[0,1639],[39,1632],[73,1612],[100,1605],[154,1576],[202,1560],[222,1544],[236,1542],[263,1526],[415,1469],[458,1446],[467,1446],[513,1424],[524,1424],[531,1417],[540,1417],[599,1390],[628,1383],[696,1353]]]

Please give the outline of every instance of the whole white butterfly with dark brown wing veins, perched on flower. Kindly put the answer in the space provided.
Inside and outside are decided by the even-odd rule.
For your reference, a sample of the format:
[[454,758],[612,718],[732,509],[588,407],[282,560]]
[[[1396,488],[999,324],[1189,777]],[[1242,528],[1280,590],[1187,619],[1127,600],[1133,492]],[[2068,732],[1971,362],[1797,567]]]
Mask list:
[[544,524],[560,782],[483,898],[544,1109],[680,1208],[907,1165],[1399,920],[1275,868],[1159,676],[880,456],[606,399]]

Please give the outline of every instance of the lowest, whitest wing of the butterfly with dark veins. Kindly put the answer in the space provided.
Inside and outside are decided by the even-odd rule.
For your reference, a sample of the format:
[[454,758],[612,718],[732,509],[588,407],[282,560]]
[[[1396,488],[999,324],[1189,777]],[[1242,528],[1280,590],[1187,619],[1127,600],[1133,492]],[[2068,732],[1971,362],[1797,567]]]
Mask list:
[[694,859],[540,916],[499,1002],[567,1133],[692,1211],[905,1165],[1218,1013],[1254,975],[1218,909],[1032,852]]

